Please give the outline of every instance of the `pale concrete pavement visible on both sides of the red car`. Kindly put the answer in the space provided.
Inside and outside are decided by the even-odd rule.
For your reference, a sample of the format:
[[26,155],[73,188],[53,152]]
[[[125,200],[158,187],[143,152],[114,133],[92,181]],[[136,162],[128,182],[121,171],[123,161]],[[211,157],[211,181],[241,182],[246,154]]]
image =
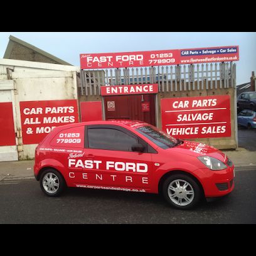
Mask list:
[[[237,150],[223,151],[235,164],[236,169],[256,167],[256,151],[248,151],[242,147]],[[33,166],[35,161],[0,162],[0,182],[15,183],[22,179],[35,179]]]

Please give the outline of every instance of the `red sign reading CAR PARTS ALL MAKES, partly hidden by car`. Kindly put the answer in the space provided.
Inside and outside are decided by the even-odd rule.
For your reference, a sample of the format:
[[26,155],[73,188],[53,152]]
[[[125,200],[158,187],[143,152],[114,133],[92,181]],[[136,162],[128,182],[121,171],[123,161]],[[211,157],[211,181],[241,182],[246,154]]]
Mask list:
[[23,144],[38,144],[57,126],[78,122],[77,100],[19,102]]

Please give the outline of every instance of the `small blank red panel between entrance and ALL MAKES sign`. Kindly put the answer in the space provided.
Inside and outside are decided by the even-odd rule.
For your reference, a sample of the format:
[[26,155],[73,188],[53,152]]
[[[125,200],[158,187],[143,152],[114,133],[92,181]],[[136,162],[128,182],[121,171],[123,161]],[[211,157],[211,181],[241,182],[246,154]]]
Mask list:
[[102,120],[102,103],[80,102],[82,122]]

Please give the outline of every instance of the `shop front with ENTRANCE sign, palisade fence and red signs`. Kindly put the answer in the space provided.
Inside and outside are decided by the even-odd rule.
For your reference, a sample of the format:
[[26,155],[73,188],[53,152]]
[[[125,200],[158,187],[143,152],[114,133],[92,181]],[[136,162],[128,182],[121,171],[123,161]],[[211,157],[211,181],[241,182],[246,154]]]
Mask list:
[[218,46],[81,54],[81,119],[142,120],[179,139],[235,149],[238,51]]

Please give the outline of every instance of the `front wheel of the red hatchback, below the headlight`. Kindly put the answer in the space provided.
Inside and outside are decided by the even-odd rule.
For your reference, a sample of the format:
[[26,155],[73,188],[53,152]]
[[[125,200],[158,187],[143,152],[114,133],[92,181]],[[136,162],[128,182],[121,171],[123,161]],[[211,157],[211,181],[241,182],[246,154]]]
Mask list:
[[202,197],[200,186],[186,174],[173,174],[163,183],[166,201],[178,209],[191,209],[198,205]]

